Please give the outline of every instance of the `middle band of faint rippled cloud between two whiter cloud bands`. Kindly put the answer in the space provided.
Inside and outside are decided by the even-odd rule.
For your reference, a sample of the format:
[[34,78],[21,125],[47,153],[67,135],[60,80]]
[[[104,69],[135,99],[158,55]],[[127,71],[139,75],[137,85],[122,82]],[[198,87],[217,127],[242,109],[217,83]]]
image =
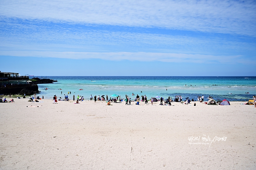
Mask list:
[[6,20],[0,24],[0,48],[22,51],[73,52],[164,52],[207,55],[244,55],[255,42],[237,36],[180,35],[148,29],[141,32],[125,28],[101,30],[77,24]]

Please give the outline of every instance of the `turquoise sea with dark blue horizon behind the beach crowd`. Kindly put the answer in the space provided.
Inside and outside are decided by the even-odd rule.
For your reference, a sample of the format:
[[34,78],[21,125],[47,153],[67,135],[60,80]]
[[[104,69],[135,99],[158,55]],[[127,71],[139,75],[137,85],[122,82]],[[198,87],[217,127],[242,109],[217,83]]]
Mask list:
[[[30,76],[30,78],[33,77],[46,78]],[[47,78],[58,82],[38,84],[41,91],[38,94],[40,97],[52,98],[53,95],[57,95],[58,98],[59,96],[64,98],[64,94],[71,91],[69,99],[73,99],[73,95],[81,95],[89,100],[90,95],[110,96],[112,94],[117,94],[121,98],[128,95],[133,99],[139,94],[139,96],[146,95],[148,98],[155,96],[174,98],[176,95],[181,95],[184,99],[186,97],[196,99],[198,95],[204,95],[207,98],[211,95],[216,100],[248,101],[256,95],[256,76],[47,76]],[[48,89],[45,90],[46,88]],[[135,96],[132,96],[132,93]]]

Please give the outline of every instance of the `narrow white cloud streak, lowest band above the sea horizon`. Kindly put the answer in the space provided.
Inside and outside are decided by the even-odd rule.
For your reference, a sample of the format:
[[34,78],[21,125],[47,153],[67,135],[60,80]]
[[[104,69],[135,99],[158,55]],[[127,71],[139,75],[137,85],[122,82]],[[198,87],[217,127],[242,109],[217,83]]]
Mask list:
[[130,60],[130,61],[161,61],[174,63],[215,63],[215,64],[238,64],[255,63],[249,59],[241,59],[240,56],[212,56],[202,54],[181,53],[92,53],[92,52],[53,52],[53,51],[0,51],[2,56],[33,56],[70,59],[104,59],[104,60]]

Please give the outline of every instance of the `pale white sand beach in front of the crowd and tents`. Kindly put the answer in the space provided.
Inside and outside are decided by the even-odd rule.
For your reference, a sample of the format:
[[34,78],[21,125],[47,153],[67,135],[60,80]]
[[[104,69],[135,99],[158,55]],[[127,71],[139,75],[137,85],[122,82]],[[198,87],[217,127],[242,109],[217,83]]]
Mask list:
[[0,169],[256,169],[256,108],[245,102],[14,100],[0,103]]

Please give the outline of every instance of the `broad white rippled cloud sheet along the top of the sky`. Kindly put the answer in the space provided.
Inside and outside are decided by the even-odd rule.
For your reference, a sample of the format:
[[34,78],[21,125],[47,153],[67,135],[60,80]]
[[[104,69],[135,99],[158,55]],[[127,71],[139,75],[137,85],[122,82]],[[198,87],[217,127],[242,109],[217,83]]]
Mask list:
[[71,1],[0,2],[0,15],[84,24],[157,27],[255,37],[255,1]]

